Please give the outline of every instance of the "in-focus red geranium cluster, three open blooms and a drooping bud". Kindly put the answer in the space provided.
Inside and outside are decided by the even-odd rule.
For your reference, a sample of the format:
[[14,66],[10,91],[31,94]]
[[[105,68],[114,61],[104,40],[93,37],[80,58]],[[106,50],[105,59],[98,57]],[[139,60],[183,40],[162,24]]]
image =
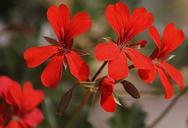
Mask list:
[[[165,91],[165,98],[173,96],[173,87],[170,79],[184,89],[183,76],[167,61],[172,58],[173,52],[185,39],[182,30],[173,23],[166,25],[162,38],[153,26],[153,14],[140,7],[130,12],[123,2],[109,4],[105,11],[106,20],[117,35],[117,40],[109,38],[99,43],[95,49],[95,57],[104,64],[93,79],[89,78],[89,66],[82,60],[82,50],[74,49],[74,38],[88,31],[91,19],[87,12],[76,13],[70,16],[69,8],[61,4],[48,8],[48,21],[53,28],[57,40],[45,37],[51,44],[28,48],[24,52],[24,59],[29,68],[34,68],[50,60],[41,74],[41,81],[46,87],[55,88],[61,81],[63,66],[68,67],[70,73],[80,82],[94,82],[101,93],[101,106],[107,112],[115,110],[113,90],[115,83],[124,80],[129,69],[136,68],[138,75],[146,83],[152,83],[158,74]],[[156,45],[151,55],[144,55],[139,49],[144,48],[146,40],[134,42],[135,36],[149,30],[149,36]],[[131,62],[129,65],[128,62]],[[107,65],[108,74],[99,76],[100,71]],[[126,86],[126,85],[125,85]]]

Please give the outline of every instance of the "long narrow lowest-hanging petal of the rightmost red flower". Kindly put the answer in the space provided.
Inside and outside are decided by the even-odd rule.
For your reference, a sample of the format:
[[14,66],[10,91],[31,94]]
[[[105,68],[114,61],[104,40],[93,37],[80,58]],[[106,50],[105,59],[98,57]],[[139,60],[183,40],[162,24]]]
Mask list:
[[157,71],[158,71],[161,83],[163,84],[163,88],[165,91],[165,98],[169,99],[173,96],[173,93],[174,93],[172,85],[169,81],[169,78],[167,77],[167,74],[165,73],[165,71],[163,69],[157,68]]

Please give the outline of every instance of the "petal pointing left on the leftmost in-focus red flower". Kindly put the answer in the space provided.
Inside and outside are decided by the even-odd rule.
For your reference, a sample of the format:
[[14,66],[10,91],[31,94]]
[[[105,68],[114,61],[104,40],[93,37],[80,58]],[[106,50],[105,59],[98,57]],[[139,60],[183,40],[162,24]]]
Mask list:
[[32,47],[24,52],[24,59],[27,66],[33,68],[42,64],[57,51],[58,48],[56,46]]

